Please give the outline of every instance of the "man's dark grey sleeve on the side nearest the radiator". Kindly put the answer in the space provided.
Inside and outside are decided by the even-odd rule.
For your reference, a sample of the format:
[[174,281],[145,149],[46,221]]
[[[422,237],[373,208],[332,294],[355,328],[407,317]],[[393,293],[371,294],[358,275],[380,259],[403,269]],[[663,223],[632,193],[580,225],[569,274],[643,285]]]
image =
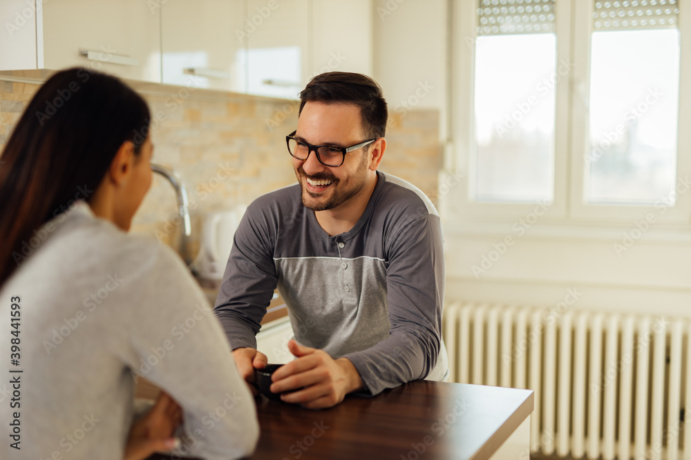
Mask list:
[[370,394],[426,377],[441,348],[444,248],[439,217],[424,214],[385,242],[390,336],[345,355]]

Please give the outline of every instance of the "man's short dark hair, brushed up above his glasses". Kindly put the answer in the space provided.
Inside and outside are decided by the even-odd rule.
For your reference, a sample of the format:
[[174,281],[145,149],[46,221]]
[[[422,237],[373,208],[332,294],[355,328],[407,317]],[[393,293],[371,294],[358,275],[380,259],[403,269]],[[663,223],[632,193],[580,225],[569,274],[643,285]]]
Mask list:
[[367,139],[384,137],[388,110],[381,86],[367,75],[326,72],[307,83],[300,92],[300,111],[305,103],[350,103],[360,108],[362,129]]

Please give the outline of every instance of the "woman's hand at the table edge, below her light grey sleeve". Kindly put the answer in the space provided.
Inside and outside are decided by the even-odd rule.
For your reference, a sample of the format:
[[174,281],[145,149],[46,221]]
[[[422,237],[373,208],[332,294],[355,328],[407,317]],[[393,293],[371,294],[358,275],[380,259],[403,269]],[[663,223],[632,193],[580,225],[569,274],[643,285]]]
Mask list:
[[173,450],[180,441],[173,438],[182,423],[182,409],[162,392],[153,408],[135,421],[127,438],[124,460],[142,460],[153,452]]

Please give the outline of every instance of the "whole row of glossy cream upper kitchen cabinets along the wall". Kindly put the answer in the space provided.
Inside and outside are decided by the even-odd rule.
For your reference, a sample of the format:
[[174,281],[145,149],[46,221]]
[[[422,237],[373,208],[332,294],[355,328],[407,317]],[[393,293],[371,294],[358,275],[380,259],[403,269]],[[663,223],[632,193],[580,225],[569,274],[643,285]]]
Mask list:
[[0,70],[296,99],[316,74],[372,73],[372,17],[372,0],[3,0]]

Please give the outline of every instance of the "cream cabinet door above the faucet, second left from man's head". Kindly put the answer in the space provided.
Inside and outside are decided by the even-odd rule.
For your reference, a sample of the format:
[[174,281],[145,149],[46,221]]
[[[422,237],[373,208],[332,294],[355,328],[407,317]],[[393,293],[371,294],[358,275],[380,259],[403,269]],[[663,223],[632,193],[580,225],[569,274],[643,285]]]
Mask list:
[[245,92],[245,0],[168,0],[163,83]]

